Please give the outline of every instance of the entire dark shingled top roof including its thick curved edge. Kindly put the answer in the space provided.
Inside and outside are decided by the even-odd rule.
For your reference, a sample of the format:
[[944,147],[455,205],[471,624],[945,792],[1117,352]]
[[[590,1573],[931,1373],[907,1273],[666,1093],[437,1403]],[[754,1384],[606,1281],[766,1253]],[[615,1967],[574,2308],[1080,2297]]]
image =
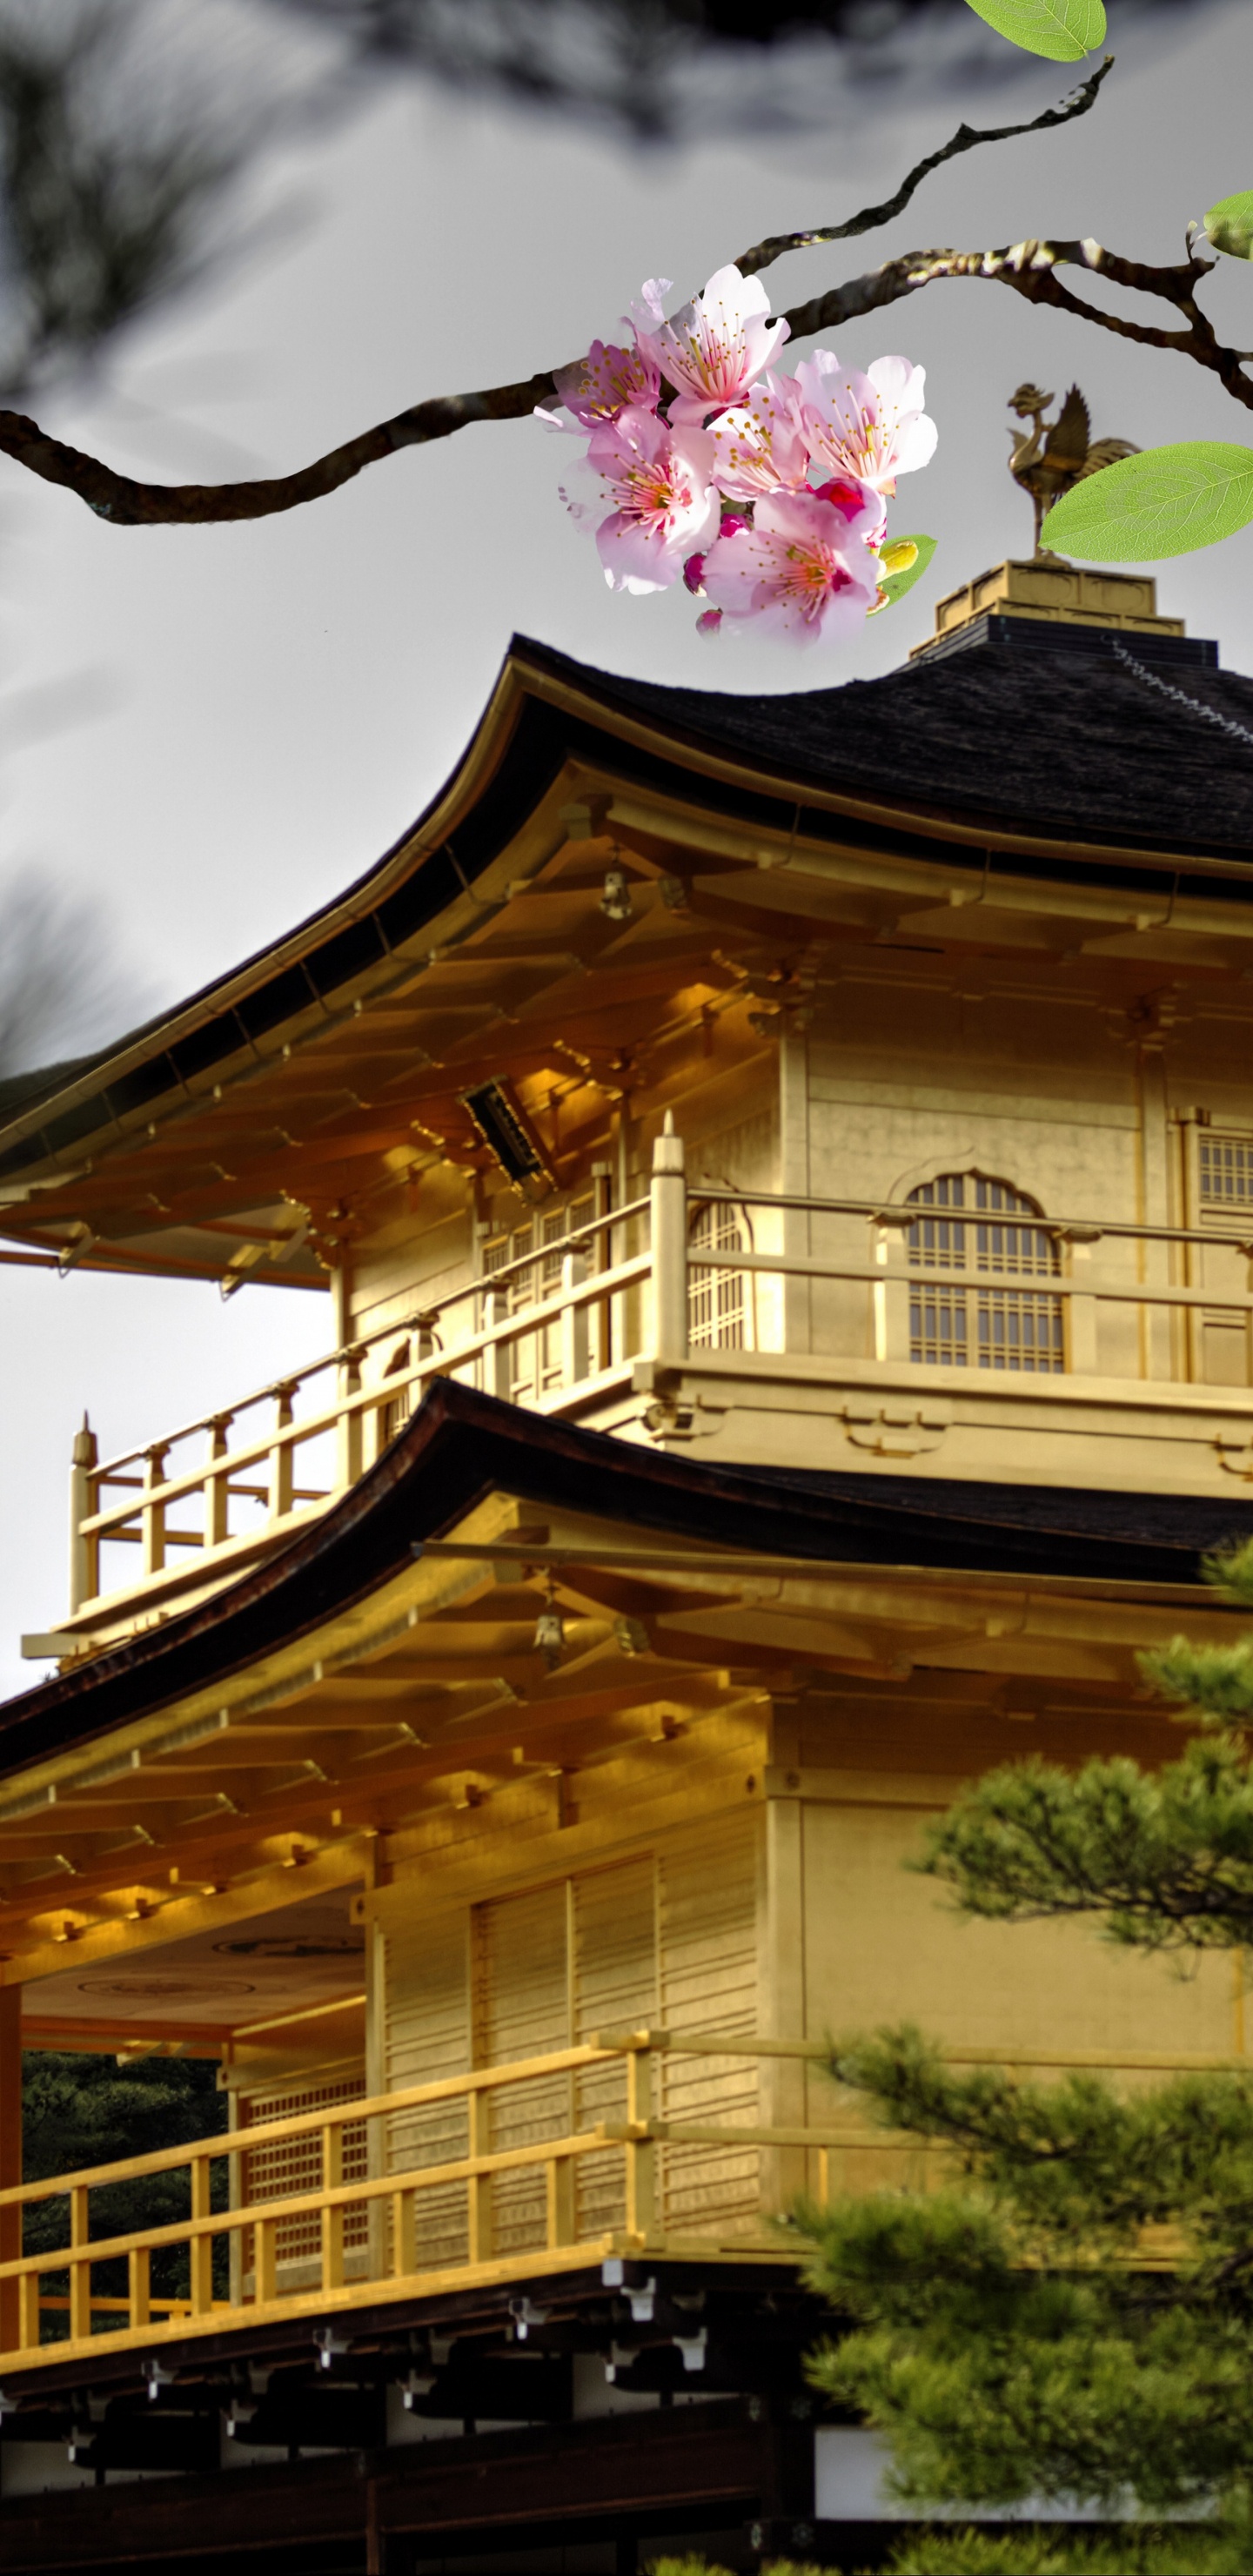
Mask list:
[[[513,636],[510,662],[526,703],[492,775],[459,819],[454,842],[423,850],[420,817],[343,896],[302,922],[291,933],[291,943],[302,943],[302,963],[271,969],[268,981],[260,974],[253,979],[248,1028],[253,1036],[271,1030],[284,1012],[304,1007],[309,992],[327,997],[361,958],[384,956],[436,920],[474,886],[567,760],[606,760],[624,775],[691,796],[691,755],[704,755],[706,775],[696,796],[709,811],[761,817],[773,829],[781,822],[786,827],[807,791],[846,793],[887,809],[882,819],[859,819],[866,848],[913,860],[951,863],[951,842],[923,829],[923,817],[941,814],[969,835],[975,855],[993,829],[1080,845],[1075,855],[1065,848],[1060,855],[1011,850],[998,860],[1008,871],[1044,868],[1070,884],[1098,881],[1106,871],[1109,884],[1155,894],[1165,853],[1201,863],[1191,876],[1181,873],[1181,894],[1253,902],[1253,680],[1194,659],[1212,647],[1134,639],[1145,670],[1152,659],[1155,677],[1178,690],[1178,698],[1160,696],[1150,677],[1137,677],[1114,657],[1116,641],[1109,631],[980,618],[969,636],[957,636],[941,654],[882,680],[735,698],[709,688],[621,680],[529,636]],[[544,680],[559,688],[549,696]],[[572,690],[580,703],[562,703],[562,690]],[[1207,721],[1207,708],[1235,732]],[[624,739],[621,719],[647,719],[647,742]],[[719,775],[712,755],[730,757],[735,773]],[[461,768],[464,760],[451,778]],[[428,814],[438,804],[433,799]],[[918,814],[918,824],[910,814]],[[820,809],[810,814],[807,829],[817,837],[846,835],[843,819]],[[405,848],[413,848],[407,876],[387,896],[371,896]],[[1103,848],[1109,860],[1093,855]],[[1127,858],[1127,850],[1142,850],[1145,860]],[[1214,860],[1243,860],[1245,868],[1227,876],[1214,871]],[[356,920],[325,930],[345,904]],[[242,961],[235,976],[268,969],[278,945],[284,943]],[[162,1087],[178,1087],[237,1051],[240,1020],[219,1002],[235,976],[214,979],[178,1012],[157,1012],[93,1056],[8,1077],[0,1082],[0,1131],[23,1118],[28,1123],[36,1103],[57,1097],[124,1051],[147,1046],[144,1066],[165,1054],[165,1074],[157,1066],[160,1079],[147,1072],[121,1077],[111,1087],[106,1118],[155,1100]],[[170,1018],[191,1012],[196,1036],[170,1046]],[[67,1118],[46,1126],[41,1141],[28,1139],[0,1154],[0,1172],[26,1170],[49,1151],[75,1151],[93,1121],[95,1110],[75,1105]]]

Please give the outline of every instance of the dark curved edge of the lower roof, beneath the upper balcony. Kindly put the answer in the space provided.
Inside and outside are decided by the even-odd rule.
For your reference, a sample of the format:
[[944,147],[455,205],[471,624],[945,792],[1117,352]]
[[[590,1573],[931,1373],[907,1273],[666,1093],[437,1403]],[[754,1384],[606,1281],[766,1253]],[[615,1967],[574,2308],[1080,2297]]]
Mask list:
[[[379,1463],[278,1556],[206,1602],[67,1667],[0,1708],[0,1777],[119,1726],[229,1687],[379,1600],[413,1571],[415,1543],[456,1530],[487,1497],[580,1515],[608,1533],[675,1538],[750,1558],[1060,1582],[1145,1597],[1201,1592],[1201,1556],[1253,1535],[1253,1504],[784,1476],[696,1466],[575,1430],[436,1381]],[[619,1540],[621,1543],[621,1540]],[[536,1553],[544,1548],[536,1543]],[[1158,1595],[1160,1597],[1160,1595]]]

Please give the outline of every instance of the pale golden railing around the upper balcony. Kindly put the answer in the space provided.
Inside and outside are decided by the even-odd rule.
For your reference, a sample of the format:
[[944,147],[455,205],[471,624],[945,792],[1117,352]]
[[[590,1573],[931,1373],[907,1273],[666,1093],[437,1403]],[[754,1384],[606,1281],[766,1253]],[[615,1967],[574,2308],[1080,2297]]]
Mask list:
[[[629,1394],[642,1360],[665,1373],[717,1355],[719,1368],[743,1365],[761,1378],[771,1352],[846,1368],[859,1383],[879,1373],[879,1381],[975,1391],[980,1381],[987,1386],[990,1368],[998,1394],[1036,1394],[1047,1376],[1101,1376],[1119,1381],[1122,1394],[1152,1381],[1155,1404],[1165,1388],[1189,1388],[1191,1401],[1201,1396],[1219,1414],[1248,1412],[1253,1208],[1245,1231],[1031,1216],[1044,1265],[995,1252],[1013,1236],[1013,1221],[987,1226],[990,1255],[944,1260],[944,1236],[938,1247],[918,1244],[920,1221],[933,1216],[936,1208],[910,1203],[688,1185],[683,1141],[668,1131],[655,1144],[650,1195],[567,1234],[552,1291],[547,1244],[147,1448],[101,1463],[95,1437],[83,1430],[72,1466],[70,1618],[90,1631],[95,1605],[144,1607],[186,1592],[204,1571],[219,1579],[266,1553],[374,1463],[438,1376],[611,1427],[614,1401]],[[962,1221],[975,1236],[975,1211],[962,1211]],[[833,1226],[846,1242],[864,1226],[864,1252],[856,1242],[846,1252],[797,1247],[802,1231]],[[626,1255],[634,1239],[642,1249]],[[1209,1283],[1204,1262],[1214,1255],[1227,1275]],[[1230,1278],[1232,1260],[1240,1285]],[[1132,1262],[1147,1275],[1134,1275]],[[807,1321],[797,1319],[799,1301],[810,1303]],[[954,1316],[964,1319],[962,1347]],[[1232,1383],[1209,1386],[1201,1334],[1219,1319],[1238,1327],[1227,1340],[1240,1368]],[[539,1347],[544,1365],[534,1358]],[[964,1376],[954,1378],[954,1368]],[[1248,1445],[1245,1430],[1235,1445]],[[106,1582],[116,1546],[139,1548],[139,1569],[124,1584]]]

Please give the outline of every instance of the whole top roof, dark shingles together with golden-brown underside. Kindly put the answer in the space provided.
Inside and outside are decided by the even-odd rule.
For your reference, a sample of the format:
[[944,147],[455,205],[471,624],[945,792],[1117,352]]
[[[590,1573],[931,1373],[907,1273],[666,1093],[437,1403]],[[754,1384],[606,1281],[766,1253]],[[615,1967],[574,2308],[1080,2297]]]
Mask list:
[[[1253,696],[1232,675],[1201,677]],[[121,1048],[59,1069],[44,1095],[8,1087],[0,1226],[36,1260],[199,1278],[242,1260],[258,1280],[320,1285],[345,1203],[431,1164],[482,1170],[464,1087],[508,1069],[570,1092],[583,1066],[572,1123],[590,1128],[621,1056],[670,1033],[675,1005],[694,1030],[709,1012],[732,1030],[740,1002],[732,1043],[750,1046],[755,974],[779,974],[815,927],[882,945],[897,914],[918,925],[936,868],[980,902],[975,933],[975,914],[954,933],[954,894],[936,886],[936,948],[957,935],[980,953],[1047,951],[1073,938],[1067,907],[1103,904],[1109,930],[1140,925],[1132,956],[1103,958],[1103,1002],[1137,989],[1152,922],[1170,925],[1158,948],[1173,940],[1183,971],[1238,974],[1253,752],[1178,724],[1145,714],[1103,665],[1042,675],[969,652],[840,690],[727,698],[611,680],[518,641],[443,796],[338,904]],[[987,778],[995,817],[980,814]],[[588,786],[614,814],[580,853],[559,817]],[[1199,819],[1225,837],[1196,837]],[[606,832],[632,878],[621,933],[598,907]],[[859,904],[828,881],[840,853],[856,855]],[[753,884],[779,863],[786,891]],[[675,866],[678,912],[657,891]],[[1044,884],[1057,930],[1026,933]],[[1235,963],[1222,935],[1209,958],[1212,914]],[[727,943],[730,969],[712,971]]]

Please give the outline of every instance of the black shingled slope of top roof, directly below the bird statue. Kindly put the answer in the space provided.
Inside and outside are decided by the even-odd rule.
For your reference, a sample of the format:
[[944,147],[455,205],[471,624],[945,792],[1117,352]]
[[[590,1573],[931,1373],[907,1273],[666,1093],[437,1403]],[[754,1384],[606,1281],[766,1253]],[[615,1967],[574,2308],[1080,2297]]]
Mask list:
[[[1152,654],[1155,677],[1178,688],[1189,708],[1127,670],[1109,636],[1093,634],[1091,652],[1075,652],[1080,631],[1062,634],[1062,649],[1042,647],[1039,631],[1034,649],[1005,649],[987,636],[882,680],[786,698],[655,688],[585,672],[534,644],[523,652],[572,680],[596,680],[598,696],[665,732],[681,726],[822,788],[1145,850],[1253,850],[1253,739],[1240,742],[1191,711],[1212,708],[1253,737],[1253,680]],[[1134,636],[1129,644],[1137,652]],[[1145,670],[1147,662],[1145,649]]]

